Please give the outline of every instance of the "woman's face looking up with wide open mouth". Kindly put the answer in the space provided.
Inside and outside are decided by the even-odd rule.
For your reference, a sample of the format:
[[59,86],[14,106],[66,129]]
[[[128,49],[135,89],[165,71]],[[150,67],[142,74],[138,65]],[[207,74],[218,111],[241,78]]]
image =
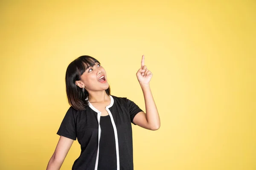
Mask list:
[[98,62],[95,62],[93,67],[90,66],[84,71],[81,75],[81,81],[88,92],[102,91],[109,87],[106,71]]

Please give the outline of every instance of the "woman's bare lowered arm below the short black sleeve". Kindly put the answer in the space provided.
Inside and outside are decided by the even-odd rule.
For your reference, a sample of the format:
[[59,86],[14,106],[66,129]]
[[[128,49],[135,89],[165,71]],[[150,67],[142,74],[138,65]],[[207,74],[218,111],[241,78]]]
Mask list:
[[60,136],[58,144],[51,159],[49,160],[46,170],[59,170],[61,168],[61,165],[64,162],[64,159],[66,158],[67,153],[70,150],[73,142],[73,139]]

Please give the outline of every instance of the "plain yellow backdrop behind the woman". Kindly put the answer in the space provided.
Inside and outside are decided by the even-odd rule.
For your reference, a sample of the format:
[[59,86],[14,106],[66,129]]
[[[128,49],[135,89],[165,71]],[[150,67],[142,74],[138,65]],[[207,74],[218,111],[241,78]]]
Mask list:
[[[254,0],[1,0],[0,169],[46,169],[81,55],[145,111],[142,54],[161,127],[133,126],[134,170],[255,170]],[[75,141],[61,169],[79,154]]]

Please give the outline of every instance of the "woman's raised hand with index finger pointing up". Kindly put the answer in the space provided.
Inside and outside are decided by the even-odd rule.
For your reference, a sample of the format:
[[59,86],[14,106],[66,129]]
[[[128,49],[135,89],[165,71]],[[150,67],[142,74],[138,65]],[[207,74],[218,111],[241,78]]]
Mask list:
[[151,71],[144,65],[145,56],[141,59],[141,68],[137,71],[136,76],[141,85],[149,85],[149,82],[153,76]]

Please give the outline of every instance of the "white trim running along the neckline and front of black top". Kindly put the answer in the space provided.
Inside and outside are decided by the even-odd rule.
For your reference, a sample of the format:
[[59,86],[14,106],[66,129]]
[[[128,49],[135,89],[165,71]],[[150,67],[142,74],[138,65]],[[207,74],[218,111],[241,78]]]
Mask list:
[[[88,99],[88,97],[87,97]],[[86,100],[87,100],[86,99]],[[114,135],[115,135],[115,143],[116,143],[116,167],[117,167],[117,170],[120,170],[120,162],[119,162],[119,146],[118,146],[118,136],[117,136],[117,129],[116,129],[116,124],[114,122],[114,119],[113,119],[113,116],[112,116],[112,113],[111,111],[109,110],[109,108],[111,108],[113,106],[113,103],[114,103],[114,99],[113,97],[110,95],[110,99],[111,99],[111,102],[110,102],[110,105],[106,106],[106,111],[108,112],[109,116],[110,116],[110,119],[111,119],[111,123],[112,123],[112,126],[113,126],[113,129],[114,129]],[[89,102],[89,101],[88,101]],[[100,116],[101,116],[101,112],[98,111],[96,108],[94,108],[94,106],[89,102],[89,107],[91,109],[93,109],[93,111],[97,112],[97,119],[98,119],[98,124],[100,122]],[[101,136],[101,128],[100,128],[100,125],[99,125],[99,130],[98,130],[98,150],[97,150],[97,156],[96,156],[96,163],[95,163],[95,169],[94,170],[97,170],[98,169],[98,164],[99,164],[99,141],[100,141],[100,136]]]

